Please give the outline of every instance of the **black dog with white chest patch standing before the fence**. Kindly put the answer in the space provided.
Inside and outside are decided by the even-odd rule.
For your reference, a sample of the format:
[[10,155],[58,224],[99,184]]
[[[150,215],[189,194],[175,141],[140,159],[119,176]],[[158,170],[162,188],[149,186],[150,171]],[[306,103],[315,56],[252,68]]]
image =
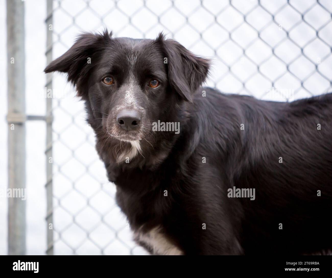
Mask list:
[[[90,62],[89,62],[90,61]],[[266,102],[200,88],[174,40],[83,34],[45,72],[85,101],[135,240],[152,254],[332,248],[332,94]]]

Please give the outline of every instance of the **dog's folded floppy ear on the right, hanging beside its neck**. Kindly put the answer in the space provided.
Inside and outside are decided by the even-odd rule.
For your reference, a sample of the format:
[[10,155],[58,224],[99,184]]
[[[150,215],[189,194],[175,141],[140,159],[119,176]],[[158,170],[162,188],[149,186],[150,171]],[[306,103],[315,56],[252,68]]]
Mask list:
[[192,96],[206,80],[210,61],[198,57],[173,39],[165,39],[162,33],[156,39],[162,45],[167,58],[170,86],[181,99],[192,101]]

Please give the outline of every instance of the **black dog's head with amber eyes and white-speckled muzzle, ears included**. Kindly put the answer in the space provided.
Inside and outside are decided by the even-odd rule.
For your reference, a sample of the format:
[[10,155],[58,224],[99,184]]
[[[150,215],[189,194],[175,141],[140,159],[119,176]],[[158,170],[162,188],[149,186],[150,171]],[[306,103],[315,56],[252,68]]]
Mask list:
[[207,59],[160,34],[155,40],[85,33],[45,72],[65,72],[86,101],[89,122],[115,140],[152,137],[205,81]]

